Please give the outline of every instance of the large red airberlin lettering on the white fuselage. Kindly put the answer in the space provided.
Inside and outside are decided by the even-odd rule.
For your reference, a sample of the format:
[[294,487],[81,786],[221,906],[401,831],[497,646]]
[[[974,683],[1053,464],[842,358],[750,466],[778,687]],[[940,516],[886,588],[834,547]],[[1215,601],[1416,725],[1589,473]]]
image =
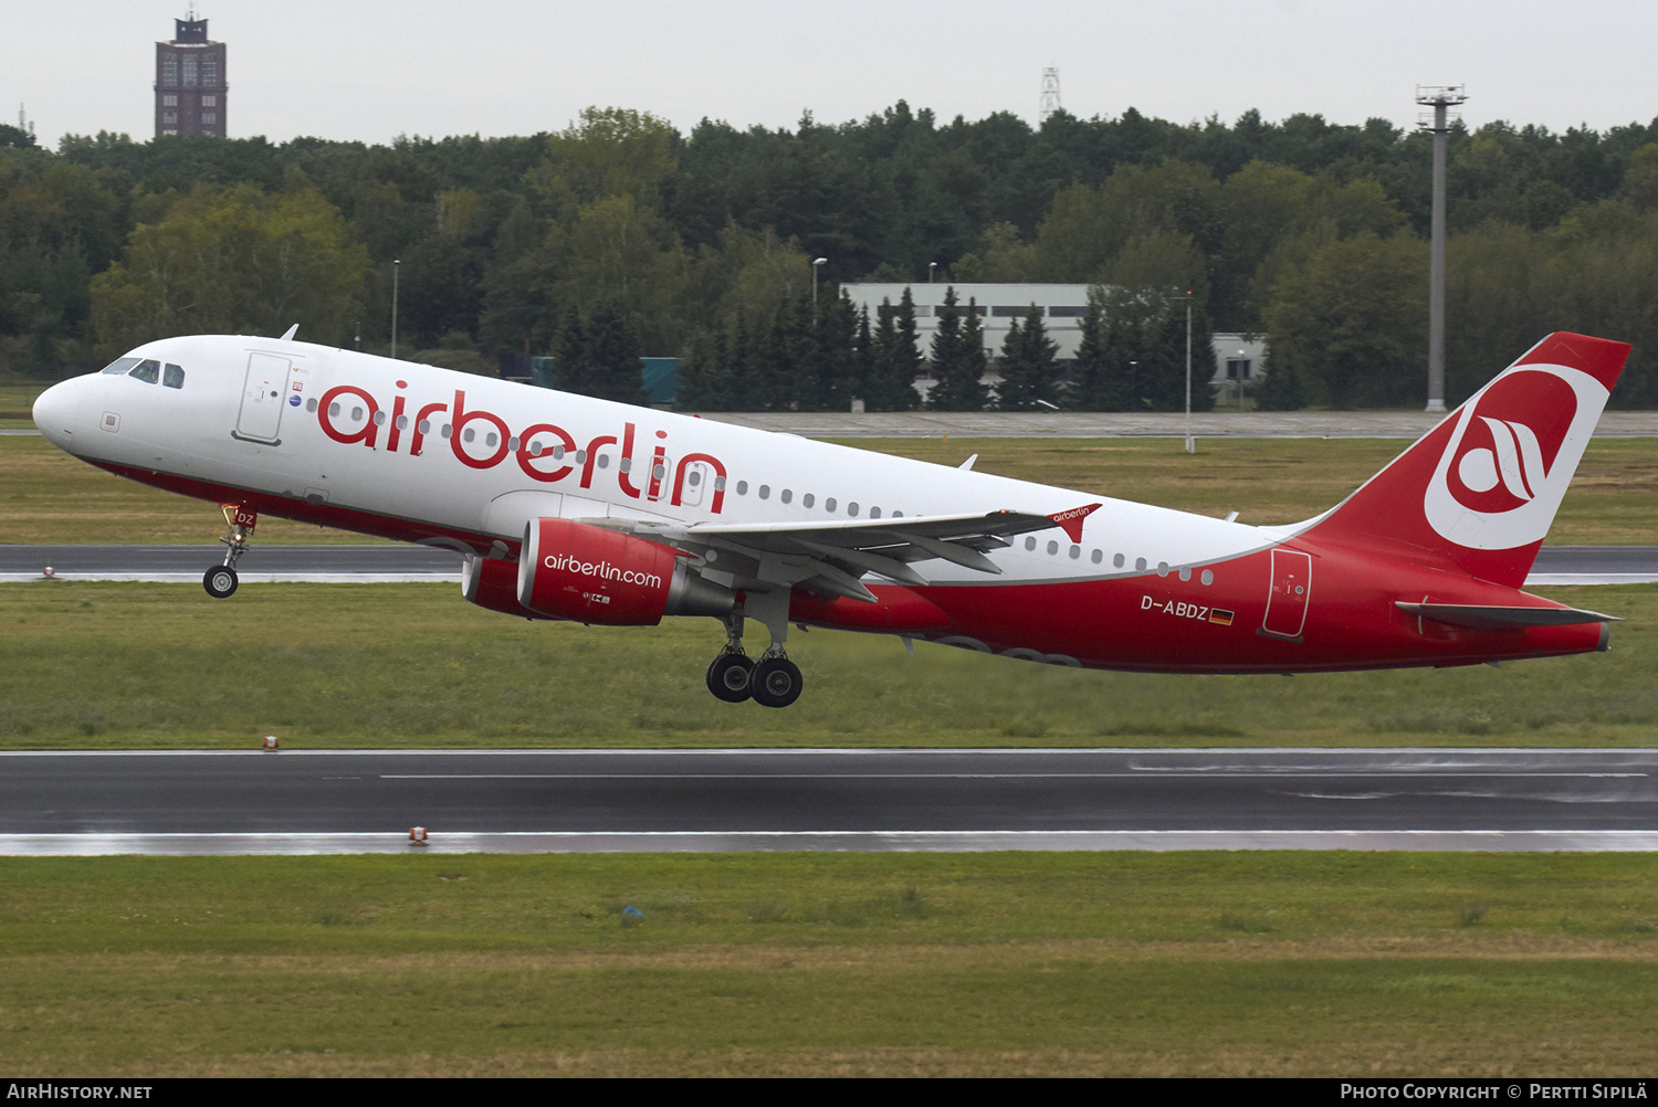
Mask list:
[[[398,381],[398,388],[408,388],[408,383]],[[361,426],[355,429],[342,429],[335,426],[335,421],[340,419],[343,413],[338,406],[342,396],[361,401],[361,414],[358,416],[358,413],[353,411],[350,418],[351,424],[356,424],[358,419],[361,419]],[[322,426],[322,433],[335,442],[340,442],[342,446],[363,444],[368,449],[378,449],[380,431],[381,426],[385,426],[385,449],[393,454],[403,447],[403,436],[408,433],[408,446],[405,452],[410,456],[419,456],[426,446],[426,439],[433,433],[431,418],[434,414],[446,414],[448,419],[438,428],[438,434],[439,437],[448,439],[449,451],[463,466],[468,466],[469,469],[494,469],[511,454],[517,461],[519,469],[524,471],[524,476],[532,481],[554,484],[580,472],[580,487],[584,489],[590,489],[594,486],[594,469],[602,467],[599,451],[605,446],[620,444],[622,457],[617,464],[617,487],[623,495],[630,499],[660,502],[663,494],[668,492],[668,502],[673,507],[680,507],[685,500],[686,474],[691,472],[691,466],[701,462],[713,469],[713,497],[708,505],[710,514],[718,515],[725,507],[726,467],[725,462],[713,454],[691,452],[680,457],[673,466],[673,482],[670,487],[667,431],[657,431],[657,442],[652,451],[645,487],[640,487],[633,482],[633,439],[637,436],[637,426],[633,423],[622,424],[620,442],[615,434],[599,434],[589,439],[585,446],[577,446],[575,437],[555,423],[531,423],[524,429],[514,433],[507,426],[507,421],[496,413],[484,408],[468,408],[466,391],[459,388],[454,389],[454,398],[449,403],[421,404],[416,408],[413,418],[408,416],[406,406],[408,396],[400,394],[391,401],[391,416],[378,419],[376,416],[380,416],[385,408],[373,393],[360,384],[335,384],[317,401],[317,423]],[[486,442],[484,449],[489,452],[481,457],[474,456],[466,447],[468,441],[479,437],[471,434],[471,424],[474,423],[482,423],[494,431],[494,434],[482,436],[482,441]],[[696,477],[693,476],[693,479]]]

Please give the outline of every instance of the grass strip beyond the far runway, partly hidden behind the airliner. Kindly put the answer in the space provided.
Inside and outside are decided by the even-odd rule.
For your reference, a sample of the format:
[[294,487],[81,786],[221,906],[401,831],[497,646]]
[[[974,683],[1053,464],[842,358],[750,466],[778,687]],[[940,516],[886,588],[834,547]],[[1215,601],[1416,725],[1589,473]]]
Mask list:
[[[1159,504],[1242,522],[1310,519],[1386,466],[1393,439],[1200,439],[1195,456],[1174,439],[857,439],[847,442]],[[222,532],[212,504],[149,489],[70,457],[43,437],[0,437],[0,542],[211,544]],[[270,519],[260,542],[363,542],[360,535]],[[1658,439],[1590,442],[1549,534],[1554,544],[1658,542]]]

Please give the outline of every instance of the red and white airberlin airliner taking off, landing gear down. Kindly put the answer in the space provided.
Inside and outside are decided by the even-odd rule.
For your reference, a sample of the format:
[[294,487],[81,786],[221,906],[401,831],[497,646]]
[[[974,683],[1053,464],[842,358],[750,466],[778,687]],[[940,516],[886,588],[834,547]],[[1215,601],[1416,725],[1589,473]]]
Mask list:
[[262,514],[451,547],[494,612],[721,620],[710,691],[769,708],[791,623],[1159,673],[1607,648],[1520,585],[1625,343],[1550,335],[1335,509],[1253,527],[288,336],[153,341],[35,403],[70,454],[222,507],[214,597]]

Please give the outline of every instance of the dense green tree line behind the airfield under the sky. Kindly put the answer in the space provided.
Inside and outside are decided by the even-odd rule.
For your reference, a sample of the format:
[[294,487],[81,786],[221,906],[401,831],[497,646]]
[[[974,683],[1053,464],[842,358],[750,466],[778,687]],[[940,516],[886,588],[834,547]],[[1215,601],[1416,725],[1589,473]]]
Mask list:
[[[1549,330],[1582,330],[1635,343],[1613,403],[1658,403],[1645,292],[1658,121],[1492,123],[1449,144],[1449,398]],[[315,341],[386,351],[396,285],[400,353],[418,360],[492,371],[605,333],[685,356],[706,409],[892,408],[902,393],[879,389],[914,346],[900,358],[889,323],[857,318],[836,288],[937,265],[958,283],[1098,285],[1089,353],[1050,365],[1025,320],[995,351],[1005,383],[983,403],[1167,406],[1176,355],[1159,351],[1179,350],[1184,389],[1184,312],[1176,328],[1167,290],[1189,288],[1197,331],[1267,336],[1260,403],[1414,404],[1429,172],[1424,133],[1253,111],[1230,124],[1061,111],[1031,128],[899,103],[834,126],[681,134],[594,108],[522,138],[99,133],[56,151],[0,126],[0,370],[60,375],[164,333],[295,321]],[[900,305],[889,312],[900,326]],[[977,326],[970,312],[960,323]],[[924,358],[933,393],[972,404],[978,383],[947,378],[948,341],[937,353]]]

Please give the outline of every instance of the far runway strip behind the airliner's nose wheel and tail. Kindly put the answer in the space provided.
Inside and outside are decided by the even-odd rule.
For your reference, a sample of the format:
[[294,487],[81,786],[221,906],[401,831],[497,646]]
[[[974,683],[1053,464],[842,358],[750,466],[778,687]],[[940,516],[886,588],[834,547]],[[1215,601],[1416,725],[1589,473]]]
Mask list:
[[[41,580],[51,565],[65,580],[201,582],[224,560],[221,545],[0,545],[0,582]],[[421,545],[254,545],[237,565],[244,583],[458,582],[453,550]],[[1658,545],[1545,545],[1529,585],[1658,582]]]

